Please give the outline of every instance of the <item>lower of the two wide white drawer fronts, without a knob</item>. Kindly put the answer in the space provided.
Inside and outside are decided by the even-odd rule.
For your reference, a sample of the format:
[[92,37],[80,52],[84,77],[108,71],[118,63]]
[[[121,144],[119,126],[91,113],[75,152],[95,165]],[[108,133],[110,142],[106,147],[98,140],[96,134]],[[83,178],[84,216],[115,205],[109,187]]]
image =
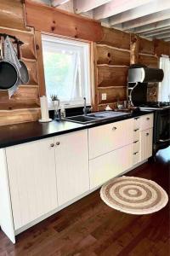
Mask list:
[[133,144],[103,154],[89,163],[90,189],[105,183],[112,177],[133,166]]

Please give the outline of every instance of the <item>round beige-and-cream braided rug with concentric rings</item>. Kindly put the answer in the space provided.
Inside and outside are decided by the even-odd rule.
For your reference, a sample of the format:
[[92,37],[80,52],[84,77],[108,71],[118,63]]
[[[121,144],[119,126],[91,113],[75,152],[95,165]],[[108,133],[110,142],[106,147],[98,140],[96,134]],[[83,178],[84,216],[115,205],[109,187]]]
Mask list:
[[141,177],[116,177],[100,189],[100,197],[118,211],[149,214],[167,205],[167,192],[157,183]]

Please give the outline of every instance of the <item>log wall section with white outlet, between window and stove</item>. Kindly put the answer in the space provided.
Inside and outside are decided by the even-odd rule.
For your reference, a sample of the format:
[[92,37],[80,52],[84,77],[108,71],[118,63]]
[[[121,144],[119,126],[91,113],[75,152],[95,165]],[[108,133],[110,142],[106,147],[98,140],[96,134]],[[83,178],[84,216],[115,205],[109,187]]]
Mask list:
[[130,34],[103,27],[103,38],[94,44],[94,109],[127,100]]

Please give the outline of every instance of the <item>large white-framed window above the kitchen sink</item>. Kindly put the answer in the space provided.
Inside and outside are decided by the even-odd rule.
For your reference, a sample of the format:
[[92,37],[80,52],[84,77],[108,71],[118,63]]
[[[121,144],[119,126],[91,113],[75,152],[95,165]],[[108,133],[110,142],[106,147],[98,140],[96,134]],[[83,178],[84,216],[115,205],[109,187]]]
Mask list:
[[52,94],[68,107],[82,106],[84,96],[91,105],[90,45],[42,35],[42,51],[48,108],[53,108]]

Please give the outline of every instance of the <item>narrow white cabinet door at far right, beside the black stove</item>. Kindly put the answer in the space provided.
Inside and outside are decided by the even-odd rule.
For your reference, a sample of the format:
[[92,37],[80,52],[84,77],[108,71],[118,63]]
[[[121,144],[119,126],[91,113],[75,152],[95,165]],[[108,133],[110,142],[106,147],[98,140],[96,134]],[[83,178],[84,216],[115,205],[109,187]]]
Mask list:
[[141,161],[148,159],[152,155],[153,129],[141,131]]

